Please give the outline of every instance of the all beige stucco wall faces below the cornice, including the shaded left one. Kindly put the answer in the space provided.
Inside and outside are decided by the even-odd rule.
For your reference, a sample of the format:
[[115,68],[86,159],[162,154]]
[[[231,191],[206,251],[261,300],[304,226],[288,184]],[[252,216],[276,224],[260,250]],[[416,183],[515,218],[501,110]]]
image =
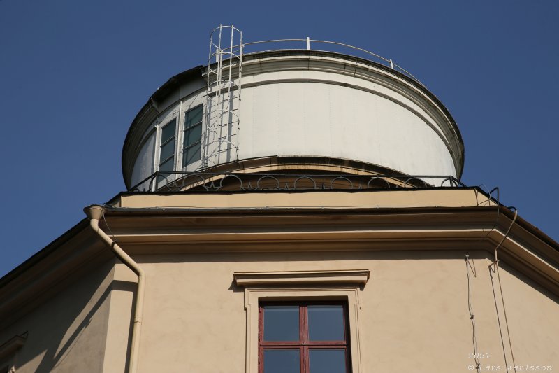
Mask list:
[[[477,352],[488,355],[479,363],[506,372],[513,356],[497,274],[488,268],[488,253],[470,251],[465,262],[466,253],[134,255],[147,275],[138,372],[245,372],[245,293],[233,273],[333,269],[371,271],[358,290],[358,330],[351,330],[358,332],[361,372],[475,371],[469,369],[476,362],[470,358],[468,274]],[[15,356],[17,372],[125,371],[136,276],[113,263],[76,276],[50,301],[0,331],[1,341],[29,333]],[[558,297],[506,262],[500,280],[516,365],[556,369]]]

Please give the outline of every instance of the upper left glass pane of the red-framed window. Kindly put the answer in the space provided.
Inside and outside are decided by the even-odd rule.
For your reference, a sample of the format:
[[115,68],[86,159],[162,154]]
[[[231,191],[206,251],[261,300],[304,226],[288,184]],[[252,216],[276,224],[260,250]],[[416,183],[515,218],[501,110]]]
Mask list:
[[299,307],[266,306],[264,307],[265,341],[299,340]]

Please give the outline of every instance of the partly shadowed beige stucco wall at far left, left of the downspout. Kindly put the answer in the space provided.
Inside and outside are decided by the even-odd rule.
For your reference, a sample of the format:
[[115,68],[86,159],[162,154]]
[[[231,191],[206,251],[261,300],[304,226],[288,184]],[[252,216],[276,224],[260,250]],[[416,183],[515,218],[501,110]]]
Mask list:
[[0,330],[0,344],[27,332],[10,367],[17,373],[103,372],[112,267],[80,269],[54,286],[50,300]]

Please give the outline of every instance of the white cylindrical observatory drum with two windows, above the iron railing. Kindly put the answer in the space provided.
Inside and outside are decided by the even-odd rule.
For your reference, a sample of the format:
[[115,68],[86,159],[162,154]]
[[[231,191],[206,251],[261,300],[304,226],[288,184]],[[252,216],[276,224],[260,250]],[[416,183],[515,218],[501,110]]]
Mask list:
[[[423,85],[365,59],[313,50],[243,56],[233,148],[204,164],[211,115],[205,71],[171,78],[124,144],[127,187],[156,171],[314,170],[460,177],[463,142]],[[233,141],[228,141],[233,143]],[[208,149],[206,148],[206,149]],[[234,150],[234,151],[233,151]],[[206,152],[208,154],[210,152]],[[206,158],[207,160],[207,158]]]

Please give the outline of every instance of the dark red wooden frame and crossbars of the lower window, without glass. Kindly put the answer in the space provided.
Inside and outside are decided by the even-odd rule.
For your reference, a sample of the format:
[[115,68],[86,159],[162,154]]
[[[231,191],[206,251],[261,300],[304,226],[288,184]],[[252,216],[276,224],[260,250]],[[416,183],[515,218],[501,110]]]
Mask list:
[[[310,341],[308,328],[307,307],[314,305],[342,306],[344,323],[344,340],[340,341]],[[298,341],[264,341],[264,307],[266,306],[298,306],[299,307],[299,340]],[[258,332],[258,372],[264,372],[264,349],[272,350],[299,350],[300,373],[308,373],[309,350],[310,349],[343,349],[345,353],[345,370],[351,373],[349,349],[349,318],[347,314],[347,302],[340,301],[315,301],[315,302],[260,302],[259,303],[259,332]]]

